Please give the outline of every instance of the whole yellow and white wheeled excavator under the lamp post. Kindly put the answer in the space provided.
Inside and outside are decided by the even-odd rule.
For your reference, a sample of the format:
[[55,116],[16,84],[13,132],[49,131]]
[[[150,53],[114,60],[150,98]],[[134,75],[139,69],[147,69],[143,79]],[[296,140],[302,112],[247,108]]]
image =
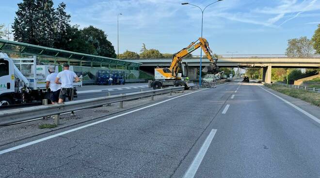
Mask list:
[[[199,42],[198,42],[199,41]],[[153,89],[160,89],[161,87],[184,86],[185,89],[189,89],[188,81],[182,81],[182,58],[192,53],[192,51],[202,48],[207,58],[210,60],[210,65],[206,66],[202,71],[217,73],[217,58],[212,55],[212,51],[209,48],[209,43],[205,38],[199,38],[197,41],[192,42],[186,48],[183,48],[176,54],[174,54],[170,67],[168,68],[155,68],[155,81],[152,81],[150,87]]]

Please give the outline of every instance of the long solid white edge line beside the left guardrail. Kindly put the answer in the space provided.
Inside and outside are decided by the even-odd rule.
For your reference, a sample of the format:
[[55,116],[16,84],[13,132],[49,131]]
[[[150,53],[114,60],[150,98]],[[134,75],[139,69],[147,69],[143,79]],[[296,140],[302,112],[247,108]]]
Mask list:
[[[206,88],[206,89],[209,89],[209,88]],[[24,147],[28,147],[30,145],[33,145],[33,144],[36,144],[36,143],[39,143],[39,142],[43,142],[45,140],[48,140],[48,139],[51,139],[51,138],[54,138],[54,137],[57,137],[57,136],[60,136],[60,135],[64,135],[64,134],[68,134],[68,133],[71,133],[71,132],[74,132],[74,131],[78,131],[80,129],[83,129],[83,128],[86,128],[86,127],[90,127],[92,125],[96,125],[96,124],[99,124],[101,122],[105,122],[107,120],[111,120],[111,119],[114,119],[114,118],[118,118],[118,117],[121,117],[121,116],[125,116],[125,115],[128,115],[130,113],[133,113],[133,112],[136,112],[136,111],[140,111],[140,110],[143,110],[145,108],[148,108],[148,107],[152,107],[152,106],[155,106],[155,105],[158,105],[158,104],[162,104],[162,103],[165,103],[167,101],[170,101],[170,100],[174,100],[176,98],[180,98],[182,96],[187,96],[187,95],[190,95],[192,93],[196,93],[196,92],[199,92],[199,91],[203,91],[203,90],[206,90],[206,89],[201,89],[201,90],[197,90],[197,91],[193,91],[191,93],[187,93],[187,94],[184,94],[184,95],[180,95],[180,96],[176,96],[174,98],[170,98],[168,100],[164,100],[164,101],[161,101],[159,103],[155,103],[155,104],[151,104],[151,105],[147,105],[147,106],[144,106],[144,107],[141,107],[139,109],[135,109],[135,110],[132,110],[132,111],[129,111],[129,112],[126,112],[126,113],[123,113],[123,114],[119,114],[117,116],[113,116],[111,118],[107,118],[107,119],[102,119],[102,120],[99,120],[99,121],[96,121],[96,122],[93,122],[93,123],[90,123],[90,124],[87,124],[87,125],[83,125],[83,126],[80,126],[80,127],[77,127],[77,128],[74,128],[74,129],[70,129],[70,130],[67,130],[67,131],[64,131],[64,132],[61,132],[61,133],[58,133],[58,134],[53,134],[53,135],[50,135],[50,136],[47,136],[47,137],[44,137],[44,138],[41,138],[41,139],[38,139],[38,140],[34,140],[32,142],[28,142],[28,143],[25,143],[25,144],[22,144],[22,145],[18,145],[16,147],[12,147],[12,148],[8,148],[8,149],[4,149],[4,150],[1,150],[0,151],[0,155],[1,154],[4,154],[4,153],[7,153],[7,152],[10,152],[10,151],[14,151],[16,149],[20,149],[20,148],[24,148]]]

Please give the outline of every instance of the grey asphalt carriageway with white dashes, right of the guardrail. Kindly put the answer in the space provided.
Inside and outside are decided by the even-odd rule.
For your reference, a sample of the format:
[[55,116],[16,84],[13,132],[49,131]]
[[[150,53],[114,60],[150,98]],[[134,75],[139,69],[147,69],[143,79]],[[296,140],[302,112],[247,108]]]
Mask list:
[[264,89],[229,83],[16,142],[0,177],[320,178],[320,124]]

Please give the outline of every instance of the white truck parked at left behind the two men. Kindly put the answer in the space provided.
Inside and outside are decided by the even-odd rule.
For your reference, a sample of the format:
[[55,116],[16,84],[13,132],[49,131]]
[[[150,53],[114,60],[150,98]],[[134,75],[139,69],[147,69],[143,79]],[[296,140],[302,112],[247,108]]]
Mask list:
[[[47,91],[48,67],[37,65],[35,56],[31,59],[11,59],[0,52],[0,106],[42,101]],[[59,66],[56,66],[55,72],[58,71]],[[81,87],[82,81],[75,82],[74,86]]]

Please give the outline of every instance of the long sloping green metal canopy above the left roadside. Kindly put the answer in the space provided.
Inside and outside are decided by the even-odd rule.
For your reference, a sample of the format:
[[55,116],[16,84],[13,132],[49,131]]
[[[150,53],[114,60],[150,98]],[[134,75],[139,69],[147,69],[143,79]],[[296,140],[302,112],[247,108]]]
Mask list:
[[139,67],[142,63],[0,39],[0,51]]

